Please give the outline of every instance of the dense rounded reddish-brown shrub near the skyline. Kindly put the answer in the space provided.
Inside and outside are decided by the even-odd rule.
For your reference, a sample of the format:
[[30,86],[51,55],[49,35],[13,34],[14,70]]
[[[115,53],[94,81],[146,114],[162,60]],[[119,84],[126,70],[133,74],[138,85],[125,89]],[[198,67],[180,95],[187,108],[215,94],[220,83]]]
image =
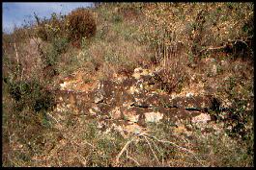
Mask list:
[[78,8],[72,11],[66,18],[68,36],[72,41],[81,40],[82,37],[96,35],[96,20],[91,12]]

